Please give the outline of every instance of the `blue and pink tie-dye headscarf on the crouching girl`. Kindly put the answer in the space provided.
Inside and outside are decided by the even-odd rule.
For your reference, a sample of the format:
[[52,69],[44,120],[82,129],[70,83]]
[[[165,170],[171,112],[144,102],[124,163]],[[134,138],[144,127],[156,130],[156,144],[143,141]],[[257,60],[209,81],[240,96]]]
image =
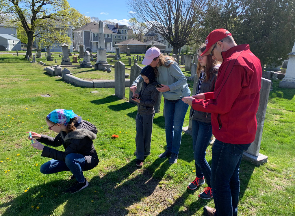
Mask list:
[[47,118],[59,124],[68,125],[68,122],[74,117],[78,117],[71,109],[55,109],[47,115]]

